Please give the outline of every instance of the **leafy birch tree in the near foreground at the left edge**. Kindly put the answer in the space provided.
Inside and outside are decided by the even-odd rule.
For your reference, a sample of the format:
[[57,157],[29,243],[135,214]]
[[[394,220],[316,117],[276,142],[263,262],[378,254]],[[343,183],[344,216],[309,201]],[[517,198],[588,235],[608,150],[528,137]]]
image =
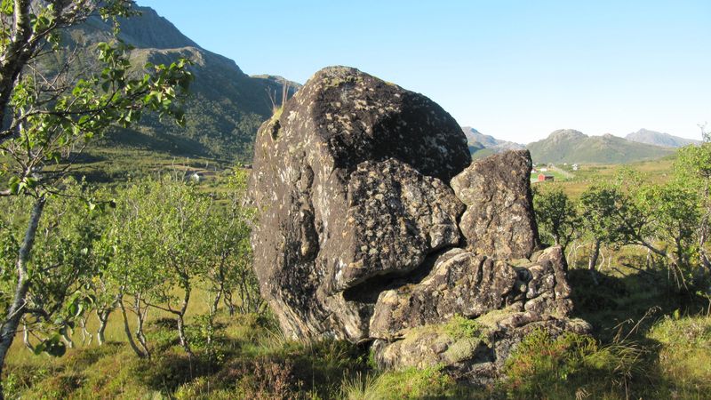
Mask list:
[[33,284],[28,263],[45,205],[61,193],[76,155],[109,126],[134,124],[144,111],[182,119],[178,98],[191,79],[185,60],[146,65],[145,73],[134,75],[129,47],[115,41],[93,49],[99,66],[94,73],[72,76],[71,57],[52,71],[41,68],[43,58],[60,50],[62,29],[92,16],[128,16],[132,5],[129,0],[0,3],[0,196],[22,196],[31,204],[14,262],[12,301],[0,313],[0,373],[28,310]]

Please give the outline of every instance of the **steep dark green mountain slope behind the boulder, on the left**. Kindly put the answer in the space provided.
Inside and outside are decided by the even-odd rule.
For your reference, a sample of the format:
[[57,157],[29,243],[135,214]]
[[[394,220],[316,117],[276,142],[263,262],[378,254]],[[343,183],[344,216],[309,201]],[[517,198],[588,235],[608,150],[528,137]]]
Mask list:
[[[134,47],[134,65],[171,63],[178,58],[194,63],[190,68],[195,81],[185,109],[187,126],[148,116],[132,132],[108,134],[99,146],[249,162],[257,129],[281,103],[284,84],[289,95],[300,85],[279,76],[248,76],[235,61],[200,47],[153,9],[137,9],[139,16],[120,21],[121,39]],[[111,29],[110,24],[92,18],[70,31],[67,42],[89,52],[93,44],[110,39]]]

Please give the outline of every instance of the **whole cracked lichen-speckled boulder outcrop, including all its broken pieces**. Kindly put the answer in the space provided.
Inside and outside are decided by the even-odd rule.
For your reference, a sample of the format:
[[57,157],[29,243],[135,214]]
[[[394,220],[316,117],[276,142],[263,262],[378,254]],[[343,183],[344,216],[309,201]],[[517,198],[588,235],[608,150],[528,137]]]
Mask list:
[[[499,373],[534,326],[584,331],[563,253],[539,251],[528,152],[469,164],[432,100],[354,68],[316,73],[260,128],[250,182],[254,268],[284,332],[473,377]],[[481,334],[440,329],[461,318]]]

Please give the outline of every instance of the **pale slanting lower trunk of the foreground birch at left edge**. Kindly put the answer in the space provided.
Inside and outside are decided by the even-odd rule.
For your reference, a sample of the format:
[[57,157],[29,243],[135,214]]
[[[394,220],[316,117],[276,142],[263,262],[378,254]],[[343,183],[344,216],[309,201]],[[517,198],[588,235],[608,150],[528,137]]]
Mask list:
[[[17,286],[12,298],[10,308],[7,310],[7,315],[4,316],[3,326],[0,328],[0,376],[2,376],[5,357],[7,356],[12,340],[15,339],[15,334],[18,332],[20,320],[25,315],[25,302],[27,301],[29,291],[28,281],[28,259],[32,252],[32,246],[35,244],[35,236],[37,233],[37,225],[42,218],[44,211],[45,198],[39,197],[36,199],[35,206],[32,208],[32,213],[29,216],[28,228],[25,231],[25,238],[20,245],[20,253],[17,258]],[[0,400],[4,398],[2,386],[0,386]]]

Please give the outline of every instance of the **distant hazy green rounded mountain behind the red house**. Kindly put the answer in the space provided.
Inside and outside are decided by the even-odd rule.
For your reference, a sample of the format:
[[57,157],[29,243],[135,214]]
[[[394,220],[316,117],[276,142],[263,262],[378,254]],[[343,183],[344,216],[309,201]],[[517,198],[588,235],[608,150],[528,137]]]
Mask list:
[[674,153],[673,148],[661,148],[626,140],[611,134],[587,136],[562,129],[546,139],[526,146],[535,163],[625,164],[633,161],[661,158]]

